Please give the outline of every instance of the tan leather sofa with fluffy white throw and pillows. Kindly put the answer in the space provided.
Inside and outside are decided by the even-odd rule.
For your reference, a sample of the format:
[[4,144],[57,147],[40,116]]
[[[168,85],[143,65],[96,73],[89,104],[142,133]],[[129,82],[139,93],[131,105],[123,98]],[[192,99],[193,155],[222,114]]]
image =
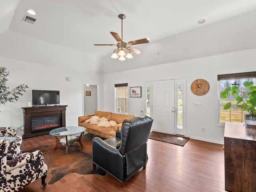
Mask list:
[[[89,122],[85,122],[86,120],[90,119],[92,116],[108,118],[109,121],[110,120],[115,121],[117,125],[104,127],[104,126],[98,126],[96,124],[90,124]],[[113,112],[95,110],[94,114],[78,117],[78,126],[85,127],[86,131],[92,134],[96,134],[104,138],[112,138],[116,136],[117,130],[121,130],[122,122],[125,119],[131,118],[131,117],[135,117],[135,115],[126,115],[126,114],[118,114]]]

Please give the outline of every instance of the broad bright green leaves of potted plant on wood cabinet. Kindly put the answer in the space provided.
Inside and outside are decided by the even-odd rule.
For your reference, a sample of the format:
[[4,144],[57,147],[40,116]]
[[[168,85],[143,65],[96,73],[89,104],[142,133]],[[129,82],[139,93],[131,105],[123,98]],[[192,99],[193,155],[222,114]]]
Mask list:
[[[249,92],[247,93],[248,98],[244,98],[243,96],[236,96],[238,94],[238,86],[228,86],[221,93],[221,97],[225,99],[229,96],[229,94],[234,97],[236,96],[236,106],[242,110],[246,110],[251,116],[256,116],[256,86],[253,86],[253,84],[253,81],[245,81],[243,83],[244,87],[249,89]],[[229,109],[231,105],[231,102],[228,102],[224,106],[224,109]]]

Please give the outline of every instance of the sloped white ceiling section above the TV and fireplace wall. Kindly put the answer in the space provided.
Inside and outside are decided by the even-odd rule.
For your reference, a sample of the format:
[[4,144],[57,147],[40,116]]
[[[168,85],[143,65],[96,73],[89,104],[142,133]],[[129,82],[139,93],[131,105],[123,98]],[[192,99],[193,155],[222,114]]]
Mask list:
[[102,74],[101,58],[13,31],[0,35],[0,57]]

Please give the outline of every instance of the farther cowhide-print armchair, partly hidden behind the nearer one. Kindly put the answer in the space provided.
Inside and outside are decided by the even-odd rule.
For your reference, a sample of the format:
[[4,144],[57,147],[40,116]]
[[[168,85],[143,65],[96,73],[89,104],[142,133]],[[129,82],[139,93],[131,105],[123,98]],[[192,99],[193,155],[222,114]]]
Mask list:
[[16,134],[15,129],[0,130],[0,137],[6,137],[6,136],[16,137],[16,140],[8,148],[7,156],[14,158],[15,156],[22,154],[22,152],[20,151],[22,136],[18,136]]

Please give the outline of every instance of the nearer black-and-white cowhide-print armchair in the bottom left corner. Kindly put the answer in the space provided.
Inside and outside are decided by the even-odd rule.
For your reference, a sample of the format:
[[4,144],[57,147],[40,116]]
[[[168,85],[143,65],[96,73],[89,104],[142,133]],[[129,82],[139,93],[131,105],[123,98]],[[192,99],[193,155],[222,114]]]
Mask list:
[[17,192],[28,184],[41,178],[46,186],[45,178],[48,167],[40,150],[22,153],[7,160],[8,141],[0,141],[0,191]]

